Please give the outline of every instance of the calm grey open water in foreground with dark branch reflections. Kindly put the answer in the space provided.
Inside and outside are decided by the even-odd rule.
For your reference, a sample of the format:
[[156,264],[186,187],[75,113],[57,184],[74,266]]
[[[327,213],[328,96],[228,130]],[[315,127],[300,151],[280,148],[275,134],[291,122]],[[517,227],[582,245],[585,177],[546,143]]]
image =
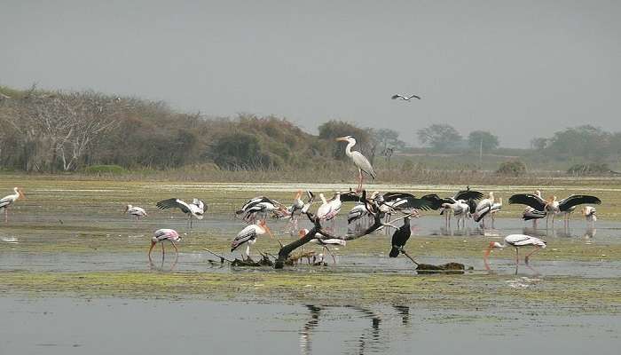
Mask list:
[[123,298],[0,298],[2,353],[616,354],[615,316]]

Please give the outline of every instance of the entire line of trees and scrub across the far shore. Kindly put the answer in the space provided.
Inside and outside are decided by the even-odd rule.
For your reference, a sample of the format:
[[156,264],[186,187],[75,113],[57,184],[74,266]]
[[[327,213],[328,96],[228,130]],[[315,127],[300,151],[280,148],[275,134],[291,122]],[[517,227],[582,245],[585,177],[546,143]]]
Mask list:
[[[404,132],[401,132],[404,134]],[[448,124],[416,132],[430,153],[511,155],[529,164],[619,165],[621,132],[580,126],[533,138],[530,149],[500,147],[488,131],[467,138]],[[184,114],[162,102],[116,97],[94,91],[16,91],[0,87],[0,169],[75,171],[93,165],[129,170],[168,170],[195,164],[222,170],[325,169],[345,161],[343,143],[352,135],[356,149],[374,162],[388,162],[406,149],[395,130],[360,128],[342,121],[318,127],[318,136],[286,119],[253,114],[213,118]],[[412,164],[410,164],[412,165]],[[464,165],[464,164],[462,164]],[[467,164],[468,165],[468,164]],[[464,169],[451,165],[446,169]],[[469,168],[468,168],[469,169]]]

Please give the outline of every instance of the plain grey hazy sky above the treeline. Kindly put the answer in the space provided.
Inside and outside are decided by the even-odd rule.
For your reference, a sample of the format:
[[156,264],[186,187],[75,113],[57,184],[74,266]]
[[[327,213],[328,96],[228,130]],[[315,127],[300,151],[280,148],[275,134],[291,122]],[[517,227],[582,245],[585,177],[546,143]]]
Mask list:
[[[162,99],[209,115],[491,130],[504,146],[621,130],[620,1],[0,4],[0,84]],[[416,93],[411,103],[390,99]]]

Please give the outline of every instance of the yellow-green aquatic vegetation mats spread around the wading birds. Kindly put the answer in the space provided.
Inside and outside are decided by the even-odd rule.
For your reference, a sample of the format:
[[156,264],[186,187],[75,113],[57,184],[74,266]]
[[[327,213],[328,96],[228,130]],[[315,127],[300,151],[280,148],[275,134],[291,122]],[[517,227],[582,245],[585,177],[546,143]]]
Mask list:
[[[59,264],[54,270],[0,271],[0,293],[30,296],[70,294],[72,296],[198,297],[209,299],[279,299],[286,302],[303,301],[346,304],[356,299],[359,303],[424,304],[430,309],[484,309],[511,307],[516,296],[540,304],[546,312],[619,312],[621,304],[613,276],[590,277],[567,275],[533,276],[488,274],[480,269],[483,249],[501,235],[419,235],[414,234],[406,245],[407,252],[420,257],[422,262],[443,264],[451,261],[465,264],[457,275],[416,275],[400,264],[400,269],[373,263],[384,263],[389,251],[389,235],[373,233],[365,238],[349,241],[346,248],[335,250],[337,257],[349,264],[328,264],[312,267],[306,264],[286,265],[282,271],[270,266],[244,267],[219,265],[215,256],[203,248],[234,258],[229,244],[243,223],[234,219],[232,211],[249,197],[269,193],[271,198],[288,202],[299,188],[315,191],[346,189],[347,185],[289,185],[289,184],[185,184],[145,181],[67,180],[59,177],[18,179],[0,177],[0,188],[23,186],[28,199],[20,201],[12,213],[12,223],[0,225],[0,256],[43,257],[63,256],[88,260],[92,256],[107,256],[111,260],[143,260],[144,266],[132,264],[145,271],[89,270],[69,272]],[[417,195],[422,193],[449,193],[462,186],[452,185],[372,185],[373,189],[403,189]],[[472,186],[482,191],[529,192],[535,186]],[[621,220],[617,202],[621,186],[617,185],[559,185],[557,194],[588,191],[599,194],[603,204],[598,206],[601,219]],[[195,225],[192,233],[183,235],[181,255],[173,272],[148,270],[146,251],[153,230],[161,224],[185,225],[180,213],[158,211],[155,201],[170,197],[198,196],[209,205],[207,216]],[[123,219],[122,209],[127,203],[145,206],[151,212],[139,222]],[[346,209],[347,207],[343,207]],[[517,217],[521,207],[507,206],[500,212],[503,217]],[[175,217],[175,218],[171,218]],[[425,217],[423,217],[425,218]],[[434,216],[428,218],[436,218]],[[576,217],[575,219],[578,219]],[[92,221],[96,221],[93,223]],[[307,222],[307,221],[306,221]],[[581,221],[582,222],[582,221]],[[578,223],[576,221],[575,223]],[[282,223],[284,224],[284,223]],[[253,248],[264,254],[276,255],[279,241],[287,243],[298,238],[286,231],[276,231],[276,238],[259,238]],[[180,228],[180,232],[183,227]],[[621,243],[610,239],[561,238],[547,239],[547,248],[538,253],[537,261],[591,263],[589,267],[621,261]],[[309,252],[307,249],[305,252]],[[494,252],[491,264],[511,260],[512,252]],[[208,260],[214,260],[214,264]],[[361,260],[366,264],[360,263]],[[4,260],[7,260],[4,258]],[[46,259],[47,260],[47,259]],[[399,259],[402,261],[401,259]],[[476,264],[472,265],[475,260]],[[390,261],[393,263],[394,261]],[[388,263],[388,262],[386,262]],[[409,262],[408,262],[409,263]],[[127,265],[127,264],[122,264]],[[179,266],[185,268],[179,270]],[[594,265],[594,266],[593,266]],[[476,270],[468,270],[475,266]],[[105,267],[105,266],[104,266]],[[169,267],[169,266],[167,266]],[[504,266],[503,266],[504,267]],[[526,287],[523,287],[526,285]],[[556,305],[562,305],[561,308]]]

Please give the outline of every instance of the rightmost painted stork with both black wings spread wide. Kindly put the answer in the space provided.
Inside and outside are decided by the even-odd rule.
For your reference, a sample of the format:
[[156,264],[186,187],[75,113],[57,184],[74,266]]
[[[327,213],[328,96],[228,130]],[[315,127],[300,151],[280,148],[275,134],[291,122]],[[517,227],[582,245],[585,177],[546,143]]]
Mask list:
[[552,226],[554,227],[554,216],[563,214],[566,218],[565,225],[569,225],[569,217],[571,211],[576,206],[586,203],[600,204],[601,200],[595,196],[586,194],[572,194],[571,196],[558,201],[556,196],[552,196],[548,200],[544,200],[541,196],[533,193],[517,193],[509,198],[510,204],[523,204],[531,208],[546,213],[546,228],[550,217],[552,217]]

